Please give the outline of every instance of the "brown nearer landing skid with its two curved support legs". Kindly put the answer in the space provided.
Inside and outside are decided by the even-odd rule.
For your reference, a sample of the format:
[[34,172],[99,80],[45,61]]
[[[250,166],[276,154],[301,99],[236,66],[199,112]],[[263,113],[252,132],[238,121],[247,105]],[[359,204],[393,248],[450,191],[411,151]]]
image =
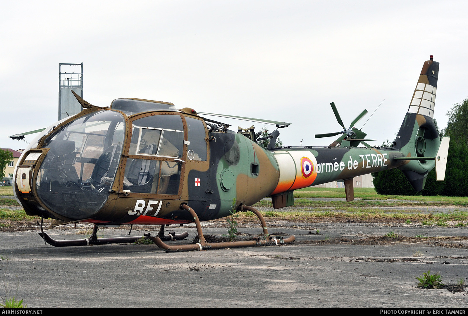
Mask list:
[[290,236],[284,239],[282,237],[271,238],[271,236],[268,234],[266,223],[265,223],[265,220],[263,219],[262,214],[260,214],[260,212],[257,211],[255,208],[242,205],[240,209],[241,212],[251,211],[252,213],[257,215],[258,219],[260,220],[260,223],[262,223],[264,239],[257,238],[257,240],[232,241],[232,242],[225,242],[225,243],[208,243],[205,240],[205,237],[203,236],[203,231],[200,225],[200,220],[198,219],[198,216],[194,212],[194,210],[186,204],[183,204],[181,208],[187,210],[190,213],[190,215],[192,215],[193,217],[193,221],[195,222],[195,225],[197,227],[198,243],[197,244],[184,244],[184,245],[168,245],[168,244],[165,244],[159,237],[151,237],[151,240],[153,240],[154,243],[159,248],[161,248],[162,250],[166,252],[194,251],[194,250],[201,251],[201,250],[219,249],[219,248],[239,248],[239,247],[290,244],[296,239],[294,236]]

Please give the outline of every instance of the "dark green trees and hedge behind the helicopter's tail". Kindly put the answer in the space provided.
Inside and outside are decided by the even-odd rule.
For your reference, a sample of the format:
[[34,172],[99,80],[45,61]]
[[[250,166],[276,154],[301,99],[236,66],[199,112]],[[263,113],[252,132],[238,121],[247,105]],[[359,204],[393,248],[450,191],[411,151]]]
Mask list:
[[427,175],[424,189],[416,192],[401,170],[390,169],[372,174],[378,194],[468,196],[468,98],[453,104],[447,116],[446,129],[437,129],[440,137],[450,137],[445,181],[436,181],[434,168]]

